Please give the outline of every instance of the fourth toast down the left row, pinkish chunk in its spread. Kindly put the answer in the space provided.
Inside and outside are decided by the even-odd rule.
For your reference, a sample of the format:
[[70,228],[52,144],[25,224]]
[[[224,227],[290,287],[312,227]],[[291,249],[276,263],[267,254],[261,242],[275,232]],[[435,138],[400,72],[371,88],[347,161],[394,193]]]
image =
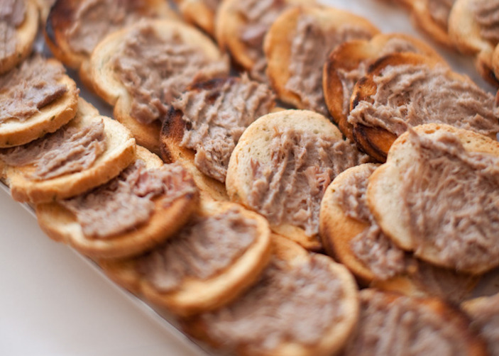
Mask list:
[[138,146],[136,162],[104,186],[65,201],[38,204],[35,212],[53,240],[94,259],[122,258],[175,235],[197,210],[197,197],[183,167],[163,165],[160,157]]

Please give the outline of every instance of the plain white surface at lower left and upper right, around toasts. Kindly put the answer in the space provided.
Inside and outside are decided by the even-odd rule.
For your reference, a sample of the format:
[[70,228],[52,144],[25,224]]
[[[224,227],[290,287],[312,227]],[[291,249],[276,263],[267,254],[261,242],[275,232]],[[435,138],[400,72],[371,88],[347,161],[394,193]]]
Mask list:
[[[322,1],[366,16],[383,32],[419,35],[407,13],[379,0]],[[437,48],[439,49],[439,48]],[[471,74],[471,59],[440,50]],[[85,95],[92,101],[92,96]],[[0,355],[205,355],[68,247],[47,238],[0,191]]]

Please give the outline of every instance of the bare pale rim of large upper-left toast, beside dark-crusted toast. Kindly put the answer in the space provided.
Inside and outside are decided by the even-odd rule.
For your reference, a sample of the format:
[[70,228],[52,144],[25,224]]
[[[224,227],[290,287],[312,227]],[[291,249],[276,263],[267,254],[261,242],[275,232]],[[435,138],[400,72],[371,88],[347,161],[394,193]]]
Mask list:
[[[183,42],[202,49],[207,58],[214,62],[224,61],[224,55],[216,48],[212,40],[199,30],[184,23],[167,20],[141,21],[135,26],[111,33],[95,48],[89,61],[89,71],[84,74],[87,76],[87,82],[92,83],[94,90],[102,99],[114,106],[114,118],[131,130],[139,145],[148,148],[151,152],[160,154],[161,123],[158,120],[150,124],[141,123],[131,116],[133,98],[119,80],[113,61],[114,55],[121,49],[124,38],[133,31],[140,30],[142,26],[151,26],[158,36],[165,39],[172,35],[178,35]],[[202,68],[200,68],[199,78],[192,79],[195,82],[209,78],[202,76]]]

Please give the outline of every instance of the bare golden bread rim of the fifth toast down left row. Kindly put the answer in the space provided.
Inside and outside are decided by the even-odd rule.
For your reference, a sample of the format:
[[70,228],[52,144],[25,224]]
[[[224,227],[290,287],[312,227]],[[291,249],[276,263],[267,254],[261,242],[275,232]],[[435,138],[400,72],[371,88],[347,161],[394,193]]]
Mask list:
[[[192,316],[195,313],[223,306],[235,299],[258,279],[268,264],[271,251],[268,223],[258,214],[247,211],[237,204],[202,201],[201,208],[194,214],[191,221],[197,218],[225,218],[224,214],[231,211],[233,213],[235,211],[242,218],[247,219],[249,223],[254,224],[251,229],[256,234],[255,240],[246,250],[241,250],[241,254],[228,266],[207,278],[198,278],[192,274],[187,274],[174,289],[162,291],[140,272],[140,261],[146,258],[146,255],[125,260],[100,260],[99,265],[111,279],[122,287],[134,294],[143,294],[154,304],[168,308],[170,312],[179,316]],[[238,227],[233,226],[233,228],[234,231],[237,231]],[[234,234],[234,232],[231,233]],[[177,237],[172,236],[170,241],[175,243],[175,238]],[[216,246],[211,247],[209,253],[217,255],[219,252],[214,251],[214,247]],[[163,247],[156,248],[159,250]],[[185,248],[188,249],[190,246],[186,243]],[[216,250],[219,249],[216,248]],[[153,254],[154,251],[151,250],[149,253]],[[196,262],[199,265],[207,263],[207,261],[202,262],[202,255],[194,253],[190,258],[195,258],[195,261],[192,262],[194,265]]]

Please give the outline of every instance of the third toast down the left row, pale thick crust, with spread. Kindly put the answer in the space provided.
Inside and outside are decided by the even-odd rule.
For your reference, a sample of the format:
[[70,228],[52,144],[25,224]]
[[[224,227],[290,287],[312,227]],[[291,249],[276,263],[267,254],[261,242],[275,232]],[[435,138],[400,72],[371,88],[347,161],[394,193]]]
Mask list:
[[[87,130],[91,132],[92,129],[100,129],[102,126],[104,126],[103,133],[102,135],[99,133],[101,144],[97,145],[84,137]],[[58,147],[50,147],[47,140],[65,137],[65,132],[72,132],[73,137],[86,140],[86,147],[89,151],[77,147],[67,152],[62,151],[54,157],[51,150]],[[64,141],[57,146],[62,143]],[[32,148],[30,155],[35,157],[37,153],[43,152],[42,158],[45,161],[43,165],[36,165],[36,161],[40,162],[38,159],[23,164],[30,147]],[[60,148],[58,149],[60,151]],[[6,184],[11,189],[13,199],[38,204],[82,194],[84,191],[108,182],[134,160],[135,152],[135,140],[129,130],[111,118],[99,116],[97,109],[83,99],[79,99],[77,114],[67,125],[27,145],[4,149],[0,160],[4,161]],[[11,160],[19,160],[18,165],[9,163]],[[87,162],[86,169],[75,168],[75,162],[81,160]],[[47,171],[47,169],[50,170]],[[48,172],[47,178],[37,178],[46,172]]]

